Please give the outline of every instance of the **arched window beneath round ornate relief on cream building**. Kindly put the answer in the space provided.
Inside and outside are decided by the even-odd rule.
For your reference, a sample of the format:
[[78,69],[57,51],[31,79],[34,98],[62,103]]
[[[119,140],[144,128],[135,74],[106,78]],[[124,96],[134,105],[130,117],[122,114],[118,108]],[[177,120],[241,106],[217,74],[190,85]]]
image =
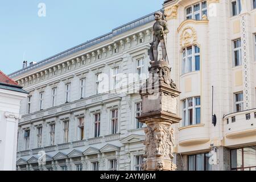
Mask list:
[[200,71],[200,48],[189,46],[182,53],[182,74]]

